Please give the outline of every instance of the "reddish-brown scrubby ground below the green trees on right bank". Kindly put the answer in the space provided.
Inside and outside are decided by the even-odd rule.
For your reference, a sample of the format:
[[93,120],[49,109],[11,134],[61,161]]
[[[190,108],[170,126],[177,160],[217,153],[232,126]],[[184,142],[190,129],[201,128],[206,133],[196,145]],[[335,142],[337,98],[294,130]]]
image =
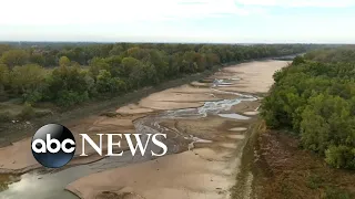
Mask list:
[[355,198],[355,172],[329,168],[322,157],[303,150],[295,137],[266,130],[255,145],[260,198]]

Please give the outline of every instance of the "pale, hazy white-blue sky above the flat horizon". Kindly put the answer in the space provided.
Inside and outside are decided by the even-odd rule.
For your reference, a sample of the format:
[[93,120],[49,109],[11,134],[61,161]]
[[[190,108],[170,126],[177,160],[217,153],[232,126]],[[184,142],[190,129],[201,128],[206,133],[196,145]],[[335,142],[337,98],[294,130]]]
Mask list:
[[0,41],[355,43],[355,0],[2,0]]

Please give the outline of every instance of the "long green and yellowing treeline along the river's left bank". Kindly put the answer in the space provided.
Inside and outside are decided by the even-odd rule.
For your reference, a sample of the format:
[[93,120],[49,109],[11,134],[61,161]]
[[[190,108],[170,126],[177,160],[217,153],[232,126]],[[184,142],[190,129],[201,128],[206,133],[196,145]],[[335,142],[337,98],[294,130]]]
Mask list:
[[[229,62],[305,52],[307,44],[0,45],[0,96],[72,106]],[[3,101],[3,100],[2,100]]]

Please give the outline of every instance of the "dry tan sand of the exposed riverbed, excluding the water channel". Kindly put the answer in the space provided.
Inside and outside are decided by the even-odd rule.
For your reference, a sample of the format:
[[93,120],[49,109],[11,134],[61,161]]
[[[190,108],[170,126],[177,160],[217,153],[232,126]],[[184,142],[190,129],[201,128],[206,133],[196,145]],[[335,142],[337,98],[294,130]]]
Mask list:
[[[79,140],[81,133],[134,133],[140,118],[160,116],[159,123],[151,119],[149,125],[166,129],[169,148],[174,151],[158,159],[84,176],[70,182],[67,189],[84,199],[230,198],[248,129],[257,121],[257,94],[267,92],[273,84],[273,73],[286,65],[285,61],[257,61],[229,66],[204,81],[151,94],[106,116],[70,123],[67,126]],[[233,101],[235,98],[239,101]],[[217,113],[201,114],[210,111],[206,102],[223,100],[231,102],[222,103],[223,108],[217,107]],[[185,116],[185,113],[195,112],[196,118]],[[0,171],[23,172],[40,168],[29,146],[30,138],[27,138],[1,148]],[[81,142],[77,142],[77,146],[81,147]],[[92,148],[90,151],[94,154]],[[71,164],[100,158],[75,158]]]

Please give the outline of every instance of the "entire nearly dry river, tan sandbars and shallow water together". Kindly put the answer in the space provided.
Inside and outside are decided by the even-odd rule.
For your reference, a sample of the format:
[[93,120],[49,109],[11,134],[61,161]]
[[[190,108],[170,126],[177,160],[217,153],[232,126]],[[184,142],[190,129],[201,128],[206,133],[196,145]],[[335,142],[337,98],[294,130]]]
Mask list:
[[[257,119],[257,93],[267,92],[272,74],[286,65],[285,61],[262,61],[229,66],[204,81],[120,107],[118,117],[94,116],[69,126],[78,134],[164,133],[169,154],[158,159],[125,153],[49,170],[29,154],[19,154],[27,140],[1,148],[1,169],[37,169],[2,175],[0,198],[229,198],[247,129]],[[29,159],[19,161],[22,157]]]

